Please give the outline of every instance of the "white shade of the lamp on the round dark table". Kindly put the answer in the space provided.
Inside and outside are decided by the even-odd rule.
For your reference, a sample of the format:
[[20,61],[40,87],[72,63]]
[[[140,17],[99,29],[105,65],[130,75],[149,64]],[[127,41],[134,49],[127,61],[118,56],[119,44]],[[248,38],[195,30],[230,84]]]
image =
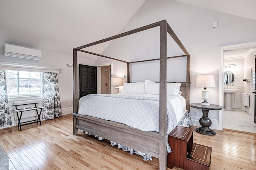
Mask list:
[[215,87],[213,74],[200,74],[196,76],[196,87]]

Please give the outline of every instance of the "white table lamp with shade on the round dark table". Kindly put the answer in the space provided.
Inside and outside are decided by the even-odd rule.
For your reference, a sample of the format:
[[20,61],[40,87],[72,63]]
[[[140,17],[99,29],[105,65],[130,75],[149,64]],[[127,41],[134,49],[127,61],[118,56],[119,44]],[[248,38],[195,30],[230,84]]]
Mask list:
[[202,92],[202,99],[204,102],[201,103],[203,106],[209,106],[210,104],[207,102],[209,99],[209,90],[206,87],[215,87],[215,80],[213,74],[200,74],[196,76],[196,87],[204,87]]

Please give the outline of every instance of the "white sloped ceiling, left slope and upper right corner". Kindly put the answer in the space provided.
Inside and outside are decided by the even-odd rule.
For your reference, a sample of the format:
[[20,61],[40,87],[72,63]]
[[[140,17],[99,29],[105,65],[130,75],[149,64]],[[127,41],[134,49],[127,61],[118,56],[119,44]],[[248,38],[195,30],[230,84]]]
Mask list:
[[[72,55],[122,31],[146,0],[0,0],[0,42]],[[256,20],[256,0],[176,0]],[[110,42],[91,49],[101,54]]]

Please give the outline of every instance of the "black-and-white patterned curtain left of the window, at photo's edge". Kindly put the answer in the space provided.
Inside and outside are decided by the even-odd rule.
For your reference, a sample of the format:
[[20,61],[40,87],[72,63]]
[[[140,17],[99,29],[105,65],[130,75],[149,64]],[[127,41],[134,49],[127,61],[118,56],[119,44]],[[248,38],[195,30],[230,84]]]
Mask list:
[[8,107],[7,84],[5,70],[0,69],[0,128],[12,125],[12,119]]

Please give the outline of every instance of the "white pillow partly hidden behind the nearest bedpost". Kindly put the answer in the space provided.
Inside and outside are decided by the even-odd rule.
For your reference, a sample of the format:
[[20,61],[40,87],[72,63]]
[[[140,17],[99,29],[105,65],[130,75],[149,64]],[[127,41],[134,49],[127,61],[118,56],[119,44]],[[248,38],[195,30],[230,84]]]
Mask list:
[[[181,83],[167,83],[167,95],[180,96],[180,86]],[[158,94],[159,95],[159,83],[152,82],[150,80],[145,80],[145,92],[147,94]]]

